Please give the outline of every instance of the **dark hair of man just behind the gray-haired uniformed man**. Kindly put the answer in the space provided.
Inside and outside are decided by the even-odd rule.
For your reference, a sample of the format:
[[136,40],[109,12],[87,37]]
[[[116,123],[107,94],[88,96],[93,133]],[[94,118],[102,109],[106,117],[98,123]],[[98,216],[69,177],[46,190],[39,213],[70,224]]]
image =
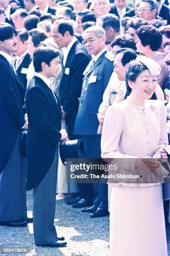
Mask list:
[[113,28],[115,32],[120,32],[120,20],[115,14],[102,15],[102,28],[108,29]]

